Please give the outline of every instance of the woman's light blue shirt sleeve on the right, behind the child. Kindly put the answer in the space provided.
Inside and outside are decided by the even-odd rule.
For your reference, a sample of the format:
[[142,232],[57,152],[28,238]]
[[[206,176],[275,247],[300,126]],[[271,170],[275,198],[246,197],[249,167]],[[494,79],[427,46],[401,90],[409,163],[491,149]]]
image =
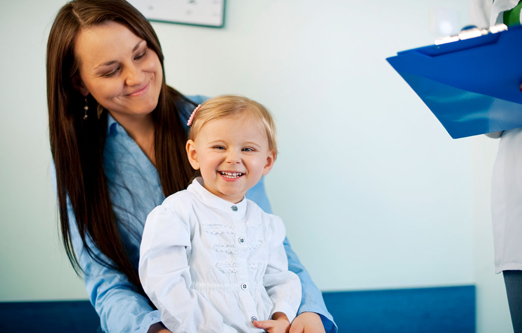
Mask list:
[[[267,213],[272,212],[270,203],[265,193],[264,177],[262,177],[255,186],[248,190],[246,197],[254,201]],[[310,277],[310,274],[301,264],[301,261],[299,261],[299,258],[295,252],[293,252],[288,238],[284,239],[283,245],[284,251],[287,254],[288,269],[296,273],[301,280],[301,306],[299,307],[297,314],[300,315],[303,312],[315,312],[321,316],[326,333],[336,333],[337,325],[334,322],[334,318],[326,309],[326,305],[323,300],[323,294],[319,289],[317,289],[315,283]]]

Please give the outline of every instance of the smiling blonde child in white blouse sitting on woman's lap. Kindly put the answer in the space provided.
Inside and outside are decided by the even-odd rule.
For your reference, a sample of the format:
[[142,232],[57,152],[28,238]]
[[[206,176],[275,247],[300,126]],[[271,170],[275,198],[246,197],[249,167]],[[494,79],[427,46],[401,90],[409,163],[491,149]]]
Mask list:
[[220,96],[187,125],[201,177],[147,217],[143,288],[175,333],[288,332],[301,282],[288,270],[284,225],[244,197],[276,159],[274,121],[255,101]]

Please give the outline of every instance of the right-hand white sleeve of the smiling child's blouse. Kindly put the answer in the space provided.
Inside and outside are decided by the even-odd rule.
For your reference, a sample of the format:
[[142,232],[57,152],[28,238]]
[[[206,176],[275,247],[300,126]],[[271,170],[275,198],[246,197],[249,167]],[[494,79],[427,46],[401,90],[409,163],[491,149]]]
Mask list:
[[284,224],[279,217],[271,216],[268,235],[269,255],[263,285],[274,303],[270,317],[276,312],[282,312],[291,323],[301,304],[301,281],[295,273],[288,270],[288,259],[283,246]]

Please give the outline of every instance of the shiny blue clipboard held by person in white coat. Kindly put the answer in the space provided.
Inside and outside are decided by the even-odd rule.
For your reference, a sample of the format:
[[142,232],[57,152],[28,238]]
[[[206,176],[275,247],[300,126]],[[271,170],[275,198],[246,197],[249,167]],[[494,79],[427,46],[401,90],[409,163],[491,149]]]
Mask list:
[[386,60],[454,139],[522,127],[522,27]]

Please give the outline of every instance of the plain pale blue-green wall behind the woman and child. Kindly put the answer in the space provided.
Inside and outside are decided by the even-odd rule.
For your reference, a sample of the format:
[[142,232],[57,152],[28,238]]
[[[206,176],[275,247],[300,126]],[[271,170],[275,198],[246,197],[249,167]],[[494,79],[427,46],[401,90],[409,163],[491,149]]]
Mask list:
[[[49,179],[45,43],[63,3],[0,5],[0,301],[85,298]],[[510,332],[492,263],[496,142],[451,139],[385,61],[432,43],[437,9],[468,22],[465,0],[229,0],[223,29],[153,26],[170,85],[274,113],[267,191],[319,288],[477,284],[478,331]]]

